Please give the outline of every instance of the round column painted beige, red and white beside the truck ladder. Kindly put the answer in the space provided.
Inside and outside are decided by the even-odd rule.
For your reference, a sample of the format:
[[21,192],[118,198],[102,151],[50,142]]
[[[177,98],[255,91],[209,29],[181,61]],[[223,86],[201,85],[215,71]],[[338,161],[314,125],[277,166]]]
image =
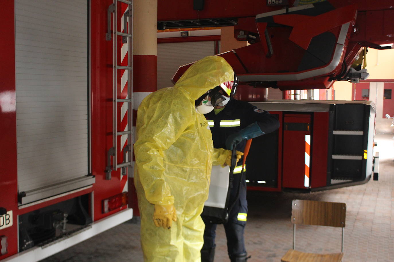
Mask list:
[[[133,145],[137,108],[147,95],[156,90],[157,0],[133,0]],[[139,216],[133,170],[130,171],[129,206],[134,209],[134,215]]]

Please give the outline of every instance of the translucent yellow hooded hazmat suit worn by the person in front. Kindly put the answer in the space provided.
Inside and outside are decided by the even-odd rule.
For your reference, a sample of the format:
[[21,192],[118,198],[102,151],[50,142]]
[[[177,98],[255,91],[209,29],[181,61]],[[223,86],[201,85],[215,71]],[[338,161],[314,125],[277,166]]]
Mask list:
[[[201,261],[204,223],[200,217],[212,164],[222,165],[229,150],[213,148],[212,135],[195,100],[234,79],[222,57],[195,62],[175,86],[148,95],[138,107],[134,179],[141,214],[145,261]],[[156,227],[154,205],[175,205],[171,229]]]

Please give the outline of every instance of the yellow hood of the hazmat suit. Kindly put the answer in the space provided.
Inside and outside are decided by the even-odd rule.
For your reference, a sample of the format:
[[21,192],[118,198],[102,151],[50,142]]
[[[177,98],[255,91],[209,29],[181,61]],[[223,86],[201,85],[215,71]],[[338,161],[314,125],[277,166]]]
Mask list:
[[233,80],[234,71],[223,57],[208,56],[192,64],[174,87],[196,100],[206,91]]

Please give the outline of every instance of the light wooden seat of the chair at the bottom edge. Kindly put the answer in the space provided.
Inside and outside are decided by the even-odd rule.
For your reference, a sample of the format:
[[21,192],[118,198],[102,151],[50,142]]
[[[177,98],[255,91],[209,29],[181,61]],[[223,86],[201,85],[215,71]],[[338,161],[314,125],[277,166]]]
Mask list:
[[294,249],[289,249],[281,258],[282,262],[341,262],[344,253],[315,254],[304,253]]

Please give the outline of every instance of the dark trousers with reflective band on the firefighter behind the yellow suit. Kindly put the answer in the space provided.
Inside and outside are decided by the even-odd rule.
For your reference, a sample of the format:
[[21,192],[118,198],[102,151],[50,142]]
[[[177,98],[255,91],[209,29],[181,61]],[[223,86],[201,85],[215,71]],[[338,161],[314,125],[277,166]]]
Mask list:
[[[234,203],[236,198],[238,185],[240,183],[241,174],[234,174],[233,187],[230,193],[229,207]],[[240,216],[238,216],[240,214]],[[238,200],[236,200],[232,207],[229,220],[224,224],[226,238],[227,238],[227,251],[229,256],[246,253],[245,241],[243,239],[243,232],[245,231],[246,215],[247,214],[247,201],[246,201],[246,182],[245,172],[242,174],[242,182],[240,186],[240,193]],[[212,224],[204,220],[204,245],[202,250],[212,250],[216,247],[215,236],[217,224]],[[213,251],[214,252],[214,251]]]

